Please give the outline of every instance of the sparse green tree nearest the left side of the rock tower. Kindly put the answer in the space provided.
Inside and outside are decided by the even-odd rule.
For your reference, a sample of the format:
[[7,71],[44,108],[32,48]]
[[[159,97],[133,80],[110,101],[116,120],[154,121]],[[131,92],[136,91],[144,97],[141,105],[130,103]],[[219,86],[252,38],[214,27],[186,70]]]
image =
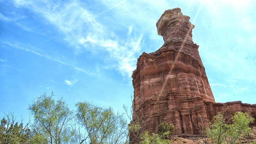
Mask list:
[[[115,114],[111,107],[101,108],[88,102],[76,104],[76,117],[85,127],[85,142],[90,144],[127,143],[128,128],[122,115]],[[87,139],[88,138],[88,139]]]

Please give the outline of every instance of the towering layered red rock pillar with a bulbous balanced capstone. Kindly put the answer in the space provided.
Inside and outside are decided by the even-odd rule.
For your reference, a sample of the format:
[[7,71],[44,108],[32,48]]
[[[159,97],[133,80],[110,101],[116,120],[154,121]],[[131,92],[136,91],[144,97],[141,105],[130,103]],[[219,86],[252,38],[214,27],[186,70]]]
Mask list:
[[[159,123],[175,126],[177,136],[197,136],[201,119],[212,119],[222,110],[215,103],[205,68],[192,41],[194,25],[180,8],[166,10],[156,23],[164,45],[154,53],[143,53],[133,72],[133,110],[146,121],[144,130],[155,132]],[[229,103],[231,104],[231,103]],[[256,105],[232,102],[232,110],[247,110],[256,117]],[[133,120],[136,121],[135,116]],[[207,122],[205,121],[207,124]]]

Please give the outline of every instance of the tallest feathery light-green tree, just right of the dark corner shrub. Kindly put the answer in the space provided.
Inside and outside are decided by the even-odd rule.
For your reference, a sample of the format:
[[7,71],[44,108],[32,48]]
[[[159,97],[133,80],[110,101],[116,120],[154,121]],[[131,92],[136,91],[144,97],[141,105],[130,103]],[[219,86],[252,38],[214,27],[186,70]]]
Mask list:
[[34,117],[34,143],[74,143],[75,132],[71,128],[73,112],[62,98],[55,101],[53,96],[53,92],[51,96],[44,93],[29,105],[30,114]]

